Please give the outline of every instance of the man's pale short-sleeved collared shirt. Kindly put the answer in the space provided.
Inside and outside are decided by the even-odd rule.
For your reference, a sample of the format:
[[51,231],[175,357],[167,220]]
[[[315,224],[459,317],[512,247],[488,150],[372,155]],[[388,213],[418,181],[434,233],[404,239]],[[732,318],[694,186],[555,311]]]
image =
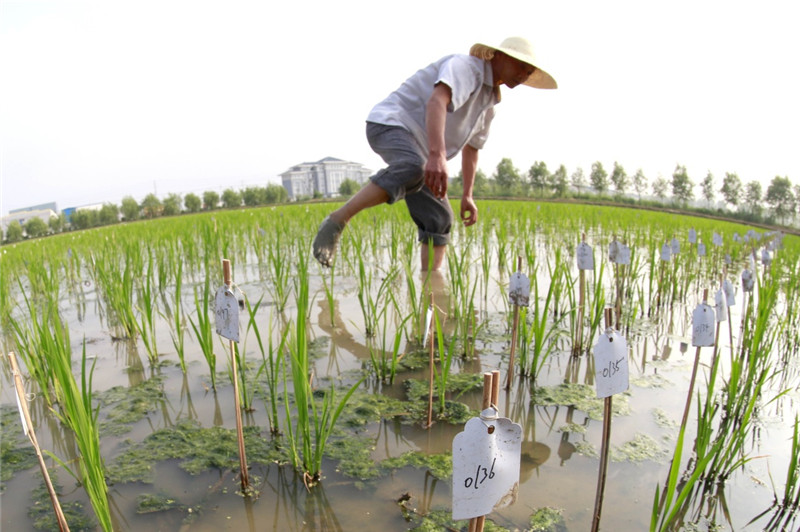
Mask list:
[[434,86],[444,83],[452,92],[444,133],[447,158],[451,159],[466,144],[483,148],[494,118],[494,105],[499,101],[492,81],[488,61],[469,55],[449,55],[404,81],[400,88],[372,108],[367,121],[405,128],[427,157],[425,109]]

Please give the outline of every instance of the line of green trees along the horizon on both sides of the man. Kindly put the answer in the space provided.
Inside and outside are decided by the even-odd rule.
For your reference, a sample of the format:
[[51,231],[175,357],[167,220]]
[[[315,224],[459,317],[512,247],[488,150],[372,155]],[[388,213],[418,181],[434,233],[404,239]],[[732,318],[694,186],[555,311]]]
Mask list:
[[[346,179],[339,194],[348,197],[361,185]],[[699,186],[699,195],[695,189]],[[450,195],[460,195],[463,187],[461,172],[452,179]],[[788,177],[775,176],[766,191],[761,182],[742,182],[734,172],[726,172],[721,182],[709,171],[699,183],[689,177],[686,166],[677,164],[671,179],[658,176],[649,181],[641,169],[629,175],[623,166],[614,162],[609,173],[603,163],[592,164],[587,176],[578,167],[572,173],[562,164],[550,171],[543,161],[534,162],[527,172],[517,169],[511,159],[502,159],[495,171],[487,176],[482,170],[475,175],[473,195],[480,197],[533,197],[577,198],[639,203],[659,206],[670,204],[687,210],[713,212],[747,222],[788,224],[800,214],[800,185],[792,184]],[[315,199],[320,194],[313,196]],[[310,198],[299,198],[299,200]],[[222,194],[206,191],[202,196],[194,193],[169,194],[163,200],[151,193],[141,203],[126,196],[120,205],[105,203],[100,209],[77,210],[67,223],[63,213],[50,219],[28,220],[24,226],[11,222],[4,242],[17,242],[25,236],[36,238],[66,229],[89,229],[120,221],[134,221],[158,216],[177,216],[183,213],[210,211],[218,208],[235,209],[241,206],[257,207],[289,201],[286,189],[277,184],[266,187],[247,187],[241,190],[225,189]],[[692,203],[693,202],[693,203]],[[766,207],[765,207],[766,205]]]

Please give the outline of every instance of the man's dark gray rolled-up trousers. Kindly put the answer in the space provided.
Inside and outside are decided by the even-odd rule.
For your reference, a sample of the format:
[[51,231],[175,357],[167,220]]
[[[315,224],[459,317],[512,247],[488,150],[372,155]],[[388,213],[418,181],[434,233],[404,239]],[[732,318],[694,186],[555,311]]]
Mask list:
[[408,212],[417,224],[419,241],[444,246],[450,241],[453,209],[425,185],[426,156],[414,137],[398,126],[367,122],[367,141],[389,166],[370,179],[389,194],[389,203],[406,200]]

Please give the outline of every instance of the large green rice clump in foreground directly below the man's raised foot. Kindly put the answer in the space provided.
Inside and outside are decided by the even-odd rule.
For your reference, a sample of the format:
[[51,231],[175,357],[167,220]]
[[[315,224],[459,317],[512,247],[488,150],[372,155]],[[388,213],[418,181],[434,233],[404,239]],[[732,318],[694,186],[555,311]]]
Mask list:
[[[320,482],[322,458],[325,445],[333,432],[336,420],[344,410],[347,401],[361,385],[354,384],[336,404],[336,391],[333,385],[322,398],[322,404],[314,400],[311,371],[308,363],[308,269],[303,255],[300,255],[295,283],[297,294],[297,321],[289,342],[289,360],[294,393],[296,424],[292,422],[289,398],[286,397],[286,436],[289,443],[290,458],[295,468],[301,469],[306,487]],[[284,371],[284,393],[288,394]]]

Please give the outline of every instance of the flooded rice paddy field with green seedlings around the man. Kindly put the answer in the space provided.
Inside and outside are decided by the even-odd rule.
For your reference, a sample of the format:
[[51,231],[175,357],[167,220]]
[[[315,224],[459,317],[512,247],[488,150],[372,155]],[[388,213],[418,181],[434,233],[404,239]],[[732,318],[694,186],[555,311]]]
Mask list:
[[[0,526],[58,530],[13,352],[70,530],[467,530],[451,517],[453,439],[491,370],[522,445],[516,500],[484,529],[590,530],[605,406],[593,351],[611,327],[629,386],[607,402],[599,529],[797,530],[798,238],[612,207],[478,205],[430,275],[402,206],[354,219],[330,270],[310,247],[332,204],[0,248]],[[577,266],[581,243],[593,269]],[[215,330],[223,259],[238,343]],[[515,272],[528,306],[509,301]],[[704,299],[714,345],[697,347]]]

